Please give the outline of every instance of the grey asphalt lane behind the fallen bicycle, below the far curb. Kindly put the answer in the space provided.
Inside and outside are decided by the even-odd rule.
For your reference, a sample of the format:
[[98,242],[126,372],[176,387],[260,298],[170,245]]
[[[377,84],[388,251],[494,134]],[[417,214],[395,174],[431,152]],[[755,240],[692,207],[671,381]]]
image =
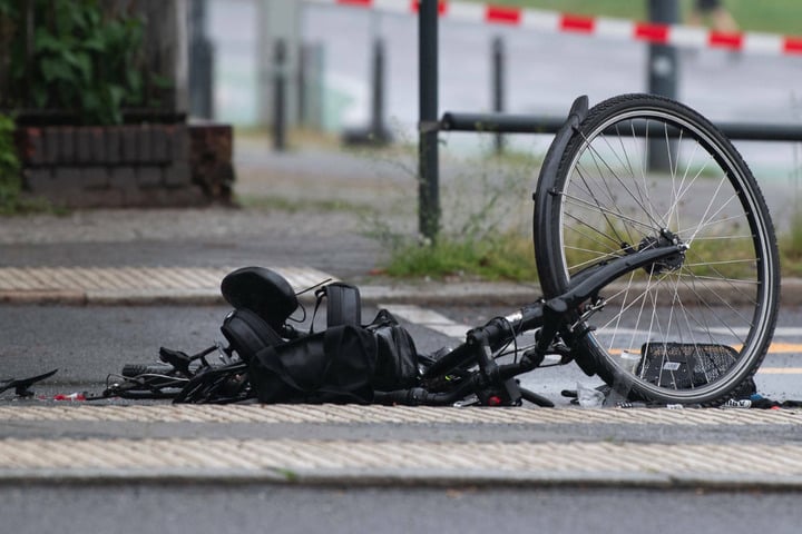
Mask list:
[[[13,333],[3,347],[0,378],[58,368],[58,374],[38,388],[42,394],[100,393],[107,376],[119,373],[125,364],[156,362],[160,346],[192,354],[225,342],[219,325],[227,312],[224,306],[0,306],[6,332]],[[459,333],[464,332],[460,325],[481,325],[511,309],[442,307],[434,312],[452,320]],[[375,309],[368,307],[363,317],[374,314]],[[324,317],[317,320],[320,328]],[[802,309],[783,308],[774,340],[791,346],[802,343],[802,330],[796,328],[801,323]],[[423,353],[460,342],[420,324],[405,324]],[[802,399],[801,357],[799,353],[770,353],[756,375],[759,392],[775,400]],[[558,405],[568,404],[560,392],[574,389],[578,382],[591,387],[602,384],[575,365],[536,369],[521,382]]]

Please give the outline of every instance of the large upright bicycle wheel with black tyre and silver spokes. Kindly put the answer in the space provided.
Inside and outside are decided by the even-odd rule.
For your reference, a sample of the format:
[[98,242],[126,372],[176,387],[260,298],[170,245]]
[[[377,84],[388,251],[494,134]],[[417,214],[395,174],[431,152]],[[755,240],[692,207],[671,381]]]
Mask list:
[[605,259],[665,239],[689,247],[605,288],[605,306],[583,319],[590,333],[575,354],[614,389],[715,405],[754,375],[776,322],[776,239],[752,172],[710,121],[662,97],[606,100],[535,199],[546,297]]

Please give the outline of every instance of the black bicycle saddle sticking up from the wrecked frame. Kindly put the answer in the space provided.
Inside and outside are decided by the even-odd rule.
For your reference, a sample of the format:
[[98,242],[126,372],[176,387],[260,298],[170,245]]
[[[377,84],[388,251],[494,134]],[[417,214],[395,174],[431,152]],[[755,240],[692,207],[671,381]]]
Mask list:
[[264,267],[243,267],[229,273],[221,283],[223,298],[236,309],[248,309],[274,330],[299,307],[290,283]]

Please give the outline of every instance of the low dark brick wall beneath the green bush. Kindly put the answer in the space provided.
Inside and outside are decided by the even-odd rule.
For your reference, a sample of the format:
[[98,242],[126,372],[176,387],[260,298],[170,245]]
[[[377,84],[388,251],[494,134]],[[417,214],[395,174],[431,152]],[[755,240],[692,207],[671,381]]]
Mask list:
[[228,202],[234,180],[231,142],[227,126],[18,130],[26,192],[71,208]]

